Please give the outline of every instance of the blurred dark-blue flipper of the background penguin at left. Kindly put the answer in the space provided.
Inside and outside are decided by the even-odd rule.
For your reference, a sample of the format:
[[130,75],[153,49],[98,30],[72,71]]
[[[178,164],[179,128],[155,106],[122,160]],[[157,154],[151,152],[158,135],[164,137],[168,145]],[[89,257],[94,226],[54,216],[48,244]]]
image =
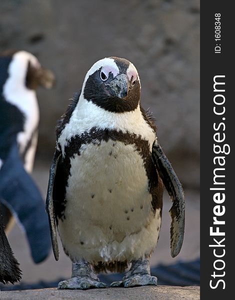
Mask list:
[[0,169],[0,200],[24,227],[33,261],[44,260],[51,248],[44,201],[23,167],[16,141]]

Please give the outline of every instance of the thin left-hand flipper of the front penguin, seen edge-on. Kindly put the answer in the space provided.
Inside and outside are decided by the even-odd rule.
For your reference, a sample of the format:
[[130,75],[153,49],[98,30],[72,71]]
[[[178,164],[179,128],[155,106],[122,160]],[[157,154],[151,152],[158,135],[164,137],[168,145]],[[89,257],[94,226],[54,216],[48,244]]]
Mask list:
[[52,248],[54,253],[55,260],[58,260],[59,251],[58,251],[58,241],[57,241],[57,233],[56,233],[56,223],[55,223],[55,214],[54,214],[54,204],[53,204],[53,184],[54,184],[54,176],[56,173],[57,163],[60,158],[61,152],[55,150],[54,157],[50,166],[49,172],[49,181],[47,187],[47,195],[46,195],[46,212],[48,214],[49,226],[50,226],[50,237],[52,242]]

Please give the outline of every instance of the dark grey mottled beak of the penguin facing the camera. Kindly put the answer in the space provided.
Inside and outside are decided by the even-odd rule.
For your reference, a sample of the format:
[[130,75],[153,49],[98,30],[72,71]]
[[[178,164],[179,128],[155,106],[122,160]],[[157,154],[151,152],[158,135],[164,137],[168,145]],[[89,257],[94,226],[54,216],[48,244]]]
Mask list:
[[105,85],[112,96],[124,98],[129,90],[129,79],[126,74],[122,73]]

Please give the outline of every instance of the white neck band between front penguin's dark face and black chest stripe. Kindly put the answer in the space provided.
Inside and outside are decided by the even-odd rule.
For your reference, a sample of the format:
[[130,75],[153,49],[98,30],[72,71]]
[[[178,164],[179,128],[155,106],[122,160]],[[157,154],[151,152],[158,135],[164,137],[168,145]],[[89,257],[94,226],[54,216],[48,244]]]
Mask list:
[[152,144],[155,139],[155,132],[144,120],[139,104],[132,111],[110,112],[87,101],[81,93],[68,123],[65,124],[58,137],[62,154],[64,155],[64,147],[72,136],[79,136],[97,129],[134,133],[148,140],[149,144]]

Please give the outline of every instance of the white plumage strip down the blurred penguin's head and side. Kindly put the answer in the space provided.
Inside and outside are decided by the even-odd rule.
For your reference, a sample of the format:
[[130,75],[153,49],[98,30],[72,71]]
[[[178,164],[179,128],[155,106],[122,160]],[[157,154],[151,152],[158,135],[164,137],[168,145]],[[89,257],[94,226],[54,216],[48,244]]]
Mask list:
[[[29,58],[31,62],[28,62]],[[20,156],[24,160],[24,167],[28,172],[31,172],[33,167],[39,122],[36,92],[25,85],[26,73],[30,67],[39,67],[37,59],[30,53],[16,52],[9,64],[8,78],[3,86],[5,101],[18,109],[22,130],[17,132],[16,140]]]

